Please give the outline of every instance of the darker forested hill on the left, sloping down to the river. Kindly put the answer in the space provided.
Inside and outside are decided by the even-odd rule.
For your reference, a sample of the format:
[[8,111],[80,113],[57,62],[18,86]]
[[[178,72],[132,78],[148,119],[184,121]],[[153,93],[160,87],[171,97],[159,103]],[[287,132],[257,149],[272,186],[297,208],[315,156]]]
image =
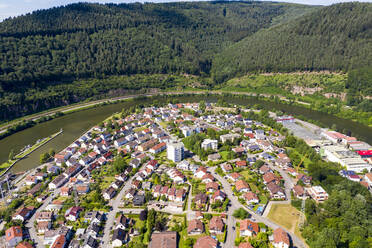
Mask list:
[[[81,101],[107,89],[71,89],[69,84],[82,79],[159,73],[209,76],[214,55],[224,48],[312,9],[269,2],[78,3],[4,20],[0,118]],[[122,81],[113,80],[117,83],[112,89],[118,89]],[[126,85],[121,91],[136,84]]]

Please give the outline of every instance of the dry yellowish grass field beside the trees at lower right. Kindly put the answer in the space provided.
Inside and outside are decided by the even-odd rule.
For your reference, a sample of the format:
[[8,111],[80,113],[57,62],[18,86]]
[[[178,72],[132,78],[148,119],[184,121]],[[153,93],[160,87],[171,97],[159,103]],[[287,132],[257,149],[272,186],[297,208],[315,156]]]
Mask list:
[[301,212],[290,204],[273,204],[267,217],[303,239],[298,226],[300,214]]

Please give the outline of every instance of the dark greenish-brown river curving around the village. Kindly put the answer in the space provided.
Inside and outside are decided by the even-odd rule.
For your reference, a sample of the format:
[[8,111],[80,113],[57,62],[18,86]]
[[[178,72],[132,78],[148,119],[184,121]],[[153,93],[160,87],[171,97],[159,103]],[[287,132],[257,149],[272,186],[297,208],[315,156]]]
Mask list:
[[47,121],[15,133],[0,140],[0,161],[4,162],[7,160],[9,152],[14,149],[18,152],[21,148],[28,144],[34,144],[36,140],[47,137],[53,133],[58,132],[61,128],[63,133],[57,136],[55,139],[50,141],[48,144],[42,146],[34,153],[30,154],[27,158],[18,162],[12,169],[14,172],[25,171],[31,168],[35,168],[39,165],[40,154],[53,148],[55,151],[60,151],[71,144],[74,140],[80,137],[85,131],[92,126],[103,121],[115,112],[120,112],[123,108],[129,108],[137,104],[149,103],[153,100],[158,102],[165,102],[168,99],[174,99],[179,102],[199,102],[205,100],[207,102],[216,102],[219,98],[223,98],[227,102],[234,104],[241,104],[245,106],[253,106],[259,104],[261,107],[267,110],[281,110],[287,114],[303,115],[307,118],[317,120],[326,126],[336,124],[341,130],[351,131],[353,135],[360,139],[371,142],[372,141],[372,128],[364,126],[362,124],[355,123],[350,120],[345,120],[325,113],[312,111],[307,108],[291,106],[281,103],[267,102],[264,100],[258,100],[253,97],[223,97],[217,95],[211,96],[168,96],[168,97],[153,97],[151,99],[137,99],[132,101],[120,102],[116,104],[99,106],[92,109],[81,110],[79,112],[67,114],[65,116],[56,118],[51,121]]

